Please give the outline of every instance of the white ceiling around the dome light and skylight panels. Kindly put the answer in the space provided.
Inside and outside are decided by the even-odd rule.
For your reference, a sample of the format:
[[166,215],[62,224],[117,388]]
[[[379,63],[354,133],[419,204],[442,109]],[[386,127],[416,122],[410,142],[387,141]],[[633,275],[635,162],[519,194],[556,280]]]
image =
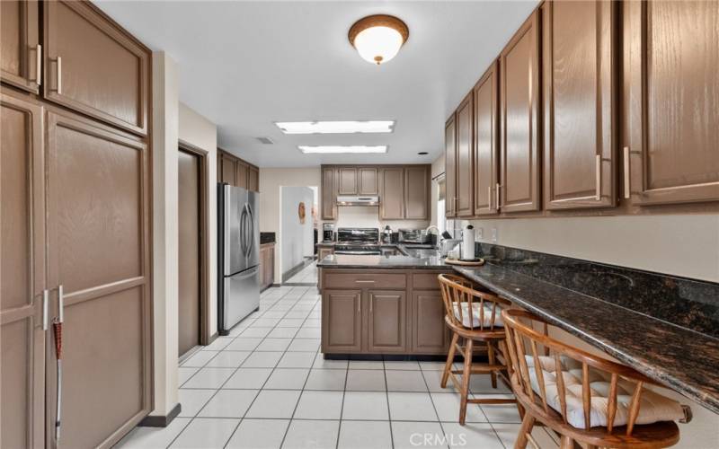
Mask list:
[[[261,167],[431,163],[444,122],[519,28],[529,1],[96,2],[180,70],[182,102],[218,145]],[[347,40],[353,22],[400,17],[410,38],[384,66]],[[286,136],[275,121],[395,119],[393,134]],[[269,136],[274,145],[262,145]],[[301,154],[297,145],[389,145],[387,154]],[[428,155],[418,155],[426,151]]]

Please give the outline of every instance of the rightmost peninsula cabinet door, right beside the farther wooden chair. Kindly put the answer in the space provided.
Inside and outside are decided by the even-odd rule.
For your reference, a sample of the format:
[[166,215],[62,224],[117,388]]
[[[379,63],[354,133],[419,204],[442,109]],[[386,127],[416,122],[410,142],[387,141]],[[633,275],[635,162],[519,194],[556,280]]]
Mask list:
[[412,294],[412,352],[446,354],[448,330],[439,290],[415,290]]

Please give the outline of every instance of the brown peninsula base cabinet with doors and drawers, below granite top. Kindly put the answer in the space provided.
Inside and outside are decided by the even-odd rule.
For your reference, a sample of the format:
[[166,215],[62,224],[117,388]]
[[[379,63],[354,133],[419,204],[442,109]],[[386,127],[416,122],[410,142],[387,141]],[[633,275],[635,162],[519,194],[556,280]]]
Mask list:
[[322,352],[447,354],[441,272],[320,269]]

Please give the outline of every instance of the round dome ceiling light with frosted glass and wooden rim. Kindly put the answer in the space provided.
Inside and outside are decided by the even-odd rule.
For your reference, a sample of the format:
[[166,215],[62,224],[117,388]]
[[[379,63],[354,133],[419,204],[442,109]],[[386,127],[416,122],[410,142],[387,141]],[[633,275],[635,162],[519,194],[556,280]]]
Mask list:
[[396,56],[410,31],[395,16],[376,14],[354,22],[348,37],[362,59],[379,66]]

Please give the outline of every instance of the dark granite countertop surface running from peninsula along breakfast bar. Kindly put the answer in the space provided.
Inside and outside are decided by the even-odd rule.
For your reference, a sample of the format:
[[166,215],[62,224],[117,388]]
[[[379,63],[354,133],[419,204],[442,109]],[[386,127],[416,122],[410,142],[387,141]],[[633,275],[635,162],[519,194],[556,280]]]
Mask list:
[[[412,253],[398,246],[405,254]],[[719,339],[495,265],[449,266],[439,257],[331,255],[324,269],[454,269],[626,365],[719,413]]]

